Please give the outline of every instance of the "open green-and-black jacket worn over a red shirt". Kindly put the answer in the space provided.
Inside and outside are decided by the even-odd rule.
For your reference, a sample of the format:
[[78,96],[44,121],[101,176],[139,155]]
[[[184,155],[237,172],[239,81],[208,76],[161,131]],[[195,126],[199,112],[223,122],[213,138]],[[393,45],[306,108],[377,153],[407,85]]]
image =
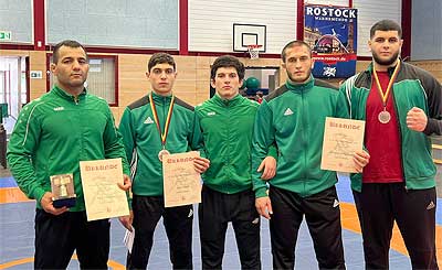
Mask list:
[[[393,68],[389,69],[390,76]],[[366,120],[366,105],[371,89],[372,66],[343,84],[338,108],[339,117]],[[435,186],[435,165],[431,158],[431,141],[428,136],[442,134],[442,88],[428,72],[401,63],[392,85],[397,121],[401,141],[402,170],[407,188],[423,190]],[[407,127],[407,112],[418,107],[425,111],[428,125],[423,132]],[[388,139],[388,138],[387,138]],[[351,174],[351,188],[361,191],[362,174]]]

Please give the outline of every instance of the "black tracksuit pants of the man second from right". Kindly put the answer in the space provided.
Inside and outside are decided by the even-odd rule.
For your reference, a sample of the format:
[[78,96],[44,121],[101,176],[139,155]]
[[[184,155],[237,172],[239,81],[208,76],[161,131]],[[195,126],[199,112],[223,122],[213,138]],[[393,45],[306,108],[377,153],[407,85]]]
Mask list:
[[319,269],[345,269],[340,209],[335,186],[308,197],[270,187],[273,269],[294,269],[297,234],[304,215]]

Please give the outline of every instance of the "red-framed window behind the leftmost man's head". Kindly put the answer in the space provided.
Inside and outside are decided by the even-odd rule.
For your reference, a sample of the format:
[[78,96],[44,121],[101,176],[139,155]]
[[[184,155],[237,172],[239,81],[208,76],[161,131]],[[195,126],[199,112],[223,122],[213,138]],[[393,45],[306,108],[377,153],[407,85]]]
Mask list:
[[[107,100],[109,106],[118,106],[118,57],[116,55],[88,55],[90,73],[85,87],[88,93]],[[52,54],[48,55],[48,71],[51,71]],[[55,77],[50,73],[48,91]]]

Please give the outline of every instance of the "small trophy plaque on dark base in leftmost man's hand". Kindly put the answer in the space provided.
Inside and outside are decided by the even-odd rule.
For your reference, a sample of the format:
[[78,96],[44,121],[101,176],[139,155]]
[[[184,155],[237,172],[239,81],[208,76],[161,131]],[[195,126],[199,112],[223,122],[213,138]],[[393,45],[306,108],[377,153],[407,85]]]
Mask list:
[[51,176],[51,188],[54,196],[52,202],[55,208],[73,207],[76,203],[73,174],[57,174]]

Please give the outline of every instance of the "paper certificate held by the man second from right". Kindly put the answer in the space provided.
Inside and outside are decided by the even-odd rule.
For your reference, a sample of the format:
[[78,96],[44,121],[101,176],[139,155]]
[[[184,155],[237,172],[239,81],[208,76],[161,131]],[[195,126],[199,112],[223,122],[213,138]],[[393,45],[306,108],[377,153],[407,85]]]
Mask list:
[[322,170],[356,173],[355,152],[362,150],[365,121],[327,117]]

